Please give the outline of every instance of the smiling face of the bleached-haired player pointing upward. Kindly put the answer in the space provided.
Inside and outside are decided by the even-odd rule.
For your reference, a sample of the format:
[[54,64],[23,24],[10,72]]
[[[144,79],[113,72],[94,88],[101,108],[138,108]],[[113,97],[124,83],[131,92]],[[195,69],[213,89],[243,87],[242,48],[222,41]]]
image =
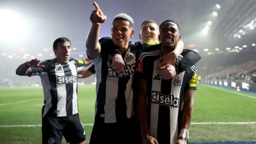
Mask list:
[[130,38],[134,36],[134,30],[126,20],[114,20],[111,30],[112,40],[116,46],[125,47]]

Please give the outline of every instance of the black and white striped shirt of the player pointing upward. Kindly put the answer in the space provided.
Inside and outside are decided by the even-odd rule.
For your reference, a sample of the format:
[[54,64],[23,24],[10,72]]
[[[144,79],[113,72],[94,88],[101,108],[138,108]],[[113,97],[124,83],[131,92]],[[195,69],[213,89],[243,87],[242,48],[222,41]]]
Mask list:
[[111,38],[101,38],[101,53],[92,61],[96,71],[96,118],[104,118],[105,123],[122,122],[131,118],[133,110],[132,80],[136,65],[136,50],[128,48],[123,54],[125,68],[118,74],[111,67],[110,49],[115,46]]

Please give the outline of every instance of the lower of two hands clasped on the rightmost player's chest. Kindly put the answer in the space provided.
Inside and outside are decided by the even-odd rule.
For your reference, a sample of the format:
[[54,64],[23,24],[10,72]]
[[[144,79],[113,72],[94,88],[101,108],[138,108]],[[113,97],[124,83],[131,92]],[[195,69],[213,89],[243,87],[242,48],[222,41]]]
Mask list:
[[159,76],[160,78],[163,78],[164,80],[170,80],[174,76],[176,76],[176,70],[173,65],[166,64],[162,67],[160,67]]

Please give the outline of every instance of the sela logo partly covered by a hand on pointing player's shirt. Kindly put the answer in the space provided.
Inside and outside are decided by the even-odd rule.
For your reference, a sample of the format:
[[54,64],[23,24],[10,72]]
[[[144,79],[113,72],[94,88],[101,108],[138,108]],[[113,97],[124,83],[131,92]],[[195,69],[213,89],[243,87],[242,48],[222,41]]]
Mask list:
[[134,70],[135,70],[135,67],[136,67],[136,63],[134,64],[126,64],[125,67],[124,67],[124,73],[116,73],[116,70],[114,70],[113,68],[111,67],[108,67],[108,76],[109,77],[120,77],[122,78],[123,76],[129,76],[130,74],[133,74],[134,73]]

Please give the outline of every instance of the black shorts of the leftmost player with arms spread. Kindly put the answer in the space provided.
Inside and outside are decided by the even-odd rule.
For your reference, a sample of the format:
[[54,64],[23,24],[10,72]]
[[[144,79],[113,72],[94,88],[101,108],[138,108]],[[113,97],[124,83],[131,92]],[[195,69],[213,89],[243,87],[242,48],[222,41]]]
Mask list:
[[46,115],[42,118],[42,144],[61,144],[62,136],[70,144],[85,141],[84,126],[79,114],[63,117]]

